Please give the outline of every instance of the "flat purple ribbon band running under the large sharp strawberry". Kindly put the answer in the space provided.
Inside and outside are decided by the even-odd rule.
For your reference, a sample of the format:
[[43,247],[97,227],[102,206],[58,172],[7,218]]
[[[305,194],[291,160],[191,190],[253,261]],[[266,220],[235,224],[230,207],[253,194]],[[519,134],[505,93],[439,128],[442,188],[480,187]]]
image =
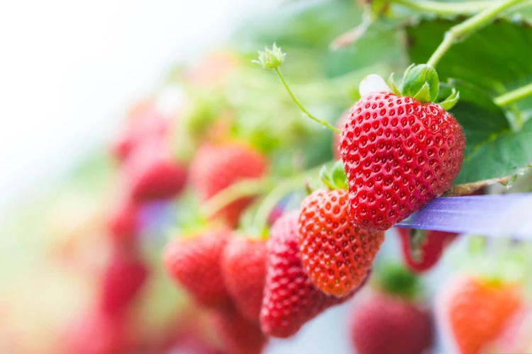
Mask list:
[[436,198],[396,226],[532,240],[532,193]]

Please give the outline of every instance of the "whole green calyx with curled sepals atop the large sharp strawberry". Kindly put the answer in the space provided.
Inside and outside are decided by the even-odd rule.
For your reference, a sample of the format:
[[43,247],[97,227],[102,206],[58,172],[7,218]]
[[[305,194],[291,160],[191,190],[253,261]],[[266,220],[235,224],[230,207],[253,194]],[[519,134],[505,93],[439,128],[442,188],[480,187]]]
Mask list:
[[[421,103],[435,102],[440,91],[438,72],[428,64],[411,64],[404,71],[401,89],[394,82],[394,74],[389,76],[388,86],[397,96],[414,98]],[[448,98],[438,103],[444,110],[450,110],[458,102],[460,93],[452,89]]]

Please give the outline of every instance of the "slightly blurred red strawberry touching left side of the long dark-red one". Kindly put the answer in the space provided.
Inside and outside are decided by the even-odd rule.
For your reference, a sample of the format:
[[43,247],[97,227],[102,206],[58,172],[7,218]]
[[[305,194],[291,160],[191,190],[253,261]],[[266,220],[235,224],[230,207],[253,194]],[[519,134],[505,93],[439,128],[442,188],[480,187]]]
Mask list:
[[266,277],[267,249],[262,239],[235,237],[223,251],[223,280],[238,310],[258,321]]

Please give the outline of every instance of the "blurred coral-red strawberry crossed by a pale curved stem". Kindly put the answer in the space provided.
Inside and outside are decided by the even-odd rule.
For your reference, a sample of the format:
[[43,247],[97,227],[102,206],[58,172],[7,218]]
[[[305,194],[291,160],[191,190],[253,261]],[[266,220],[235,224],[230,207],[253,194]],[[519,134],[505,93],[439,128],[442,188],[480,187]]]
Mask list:
[[[265,173],[266,162],[259,152],[243,144],[206,145],[192,161],[190,181],[201,200],[207,200],[239,180],[260,178]],[[234,227],[252,201],[252,198],[235,200],[223,207],[216,217]]]

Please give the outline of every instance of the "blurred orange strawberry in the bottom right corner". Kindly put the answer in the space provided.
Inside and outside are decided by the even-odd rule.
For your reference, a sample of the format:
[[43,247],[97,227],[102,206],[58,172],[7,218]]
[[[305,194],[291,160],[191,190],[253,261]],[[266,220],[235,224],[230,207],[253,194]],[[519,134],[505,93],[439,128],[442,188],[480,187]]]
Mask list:
[[476,354],[493,341],[521,305],[516,288],[472,276],[455,278],[438,299],[462,354]]

